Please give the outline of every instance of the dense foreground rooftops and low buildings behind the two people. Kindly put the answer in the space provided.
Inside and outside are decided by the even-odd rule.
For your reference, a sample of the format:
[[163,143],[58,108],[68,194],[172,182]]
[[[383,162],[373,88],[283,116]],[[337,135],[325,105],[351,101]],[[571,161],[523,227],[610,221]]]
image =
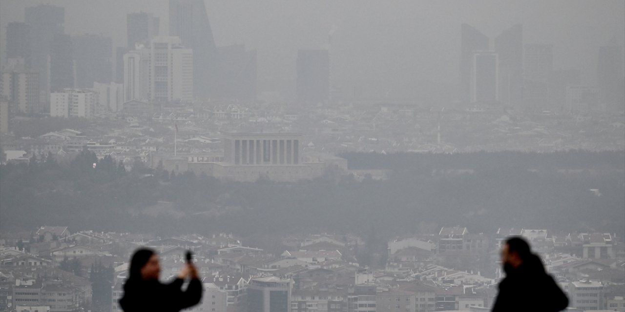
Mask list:
[[[270,252],[224,233],[158,238],[41,227],[2,235],[0,305],[88,309],[100,294],[85,276],[97,263],[113,271],[107,306],[121,311],[129,256],[148,246],[159,251],[163,280],[176,275],[184,251],[194,251],[204,295],[190,311],[487,311],[502,278],[499,248],[509,235],[531,241],[571,311],[625,311],[625,248],[614,235],[524,228],[474,234],[463,227],[394,238],[387,260],[371,267],[358,264],[355,251],[364,243],[352,235],[287,236]],[[78,268],[63,268],[74,259]]]

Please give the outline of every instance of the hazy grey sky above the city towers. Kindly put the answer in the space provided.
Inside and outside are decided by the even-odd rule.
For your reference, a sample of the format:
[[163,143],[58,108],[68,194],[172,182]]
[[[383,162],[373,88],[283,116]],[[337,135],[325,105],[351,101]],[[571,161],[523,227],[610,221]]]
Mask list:
[[[126,42],[126,14],[153,12],[168,32],[168,1],[0,0],[2,32],[24,7],[66,7],[66,32],[104,32]],[[327,47],[336,80],[432,80],[456,84],[460,25],[494,37],[523,24],[524,44],[554,44],[556,69],[593,84],[599,46],[625,38],[625,1],[206,1],[217,46],[257,49],[259,80],[294,79],[298,49]],[[2,46],[4,46],[4,36]],[[2,47],[4,50],[4,47]],[[261,82],[259,81],[259,82]]]

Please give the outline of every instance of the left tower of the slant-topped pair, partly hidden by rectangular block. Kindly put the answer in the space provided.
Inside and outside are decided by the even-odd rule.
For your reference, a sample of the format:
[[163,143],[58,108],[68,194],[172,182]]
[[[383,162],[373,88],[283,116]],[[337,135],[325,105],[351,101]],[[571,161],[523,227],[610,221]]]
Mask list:
[[462,24],[460,38],[460,94],[463,102],[471,100],[471,68],[475,51],[489,50],[490,39],[469,24]]

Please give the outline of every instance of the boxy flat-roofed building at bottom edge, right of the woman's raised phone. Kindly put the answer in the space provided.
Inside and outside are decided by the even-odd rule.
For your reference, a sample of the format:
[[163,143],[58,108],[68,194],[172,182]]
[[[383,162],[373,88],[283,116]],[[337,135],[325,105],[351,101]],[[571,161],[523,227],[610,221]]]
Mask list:
[[291,311],[291,279],[254,278],[247,285],[247,312]]

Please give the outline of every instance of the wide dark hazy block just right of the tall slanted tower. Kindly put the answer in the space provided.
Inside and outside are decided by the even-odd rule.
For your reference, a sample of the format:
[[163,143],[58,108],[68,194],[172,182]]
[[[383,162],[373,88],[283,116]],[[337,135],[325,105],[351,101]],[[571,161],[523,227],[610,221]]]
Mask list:
[[221,60],[221,76],[214,97],[256,100],[256,50],[246,51],[243,44],[217,49]]

